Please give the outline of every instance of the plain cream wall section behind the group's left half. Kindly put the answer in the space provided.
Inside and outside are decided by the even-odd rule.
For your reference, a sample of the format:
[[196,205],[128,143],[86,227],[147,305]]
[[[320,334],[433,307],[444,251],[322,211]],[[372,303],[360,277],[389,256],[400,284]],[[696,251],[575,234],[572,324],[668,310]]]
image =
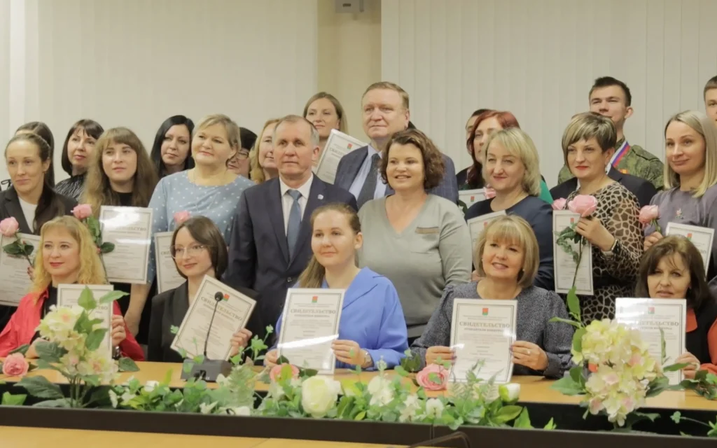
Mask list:
[[0,136],[45,121],[59,181],[79,118],[125,125],[149,150],[177,113],[250,129],[300,113],[318,84],[317,1],[0,1]]

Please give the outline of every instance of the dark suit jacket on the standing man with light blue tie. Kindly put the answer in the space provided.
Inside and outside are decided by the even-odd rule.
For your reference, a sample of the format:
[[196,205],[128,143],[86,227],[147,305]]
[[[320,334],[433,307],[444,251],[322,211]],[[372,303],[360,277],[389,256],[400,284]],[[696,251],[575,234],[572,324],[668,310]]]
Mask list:
[[[252,186],[239,198],[224,283],[234,289],[245,287],[259,292],[257,309],[266,325],[276,325],[286,291],[309,262],[311,214],[318,207],[335,202],[357,209],[353,194],[314,176],[294,257],[289,259],[279,179]],[[260,333],[260,337],[263,335],[264,332]]]

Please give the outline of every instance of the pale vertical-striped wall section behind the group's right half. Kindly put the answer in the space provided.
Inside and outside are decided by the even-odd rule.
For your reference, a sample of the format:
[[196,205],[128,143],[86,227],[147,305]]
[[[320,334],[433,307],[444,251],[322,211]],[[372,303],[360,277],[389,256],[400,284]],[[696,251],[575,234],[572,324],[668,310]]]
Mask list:
[[704,110],[717,75],[714,0],[400,0],[381,5],[381,72],[411,95],[412,120],[456,168],[465,120],[511,110],[556,184],[560,138],[588,91],[612,75],[632,91],[625,135],[664,159],[665,121]]

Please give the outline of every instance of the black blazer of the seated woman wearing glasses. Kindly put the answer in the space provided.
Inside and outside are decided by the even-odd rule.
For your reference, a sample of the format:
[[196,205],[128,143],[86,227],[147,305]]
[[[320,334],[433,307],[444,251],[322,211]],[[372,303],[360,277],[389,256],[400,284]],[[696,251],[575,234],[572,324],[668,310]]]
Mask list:
[[[152,298],[152,314],[149,320],[149,340],[147,344],[147,361],[158,363],[181,363],[184,358],[171,349],[174,334],[172,326],[179,327],[189,310],[189,286],[182,283],[174,290],[168,290]],[[237,291],[258,301],[256,291],[239,288]],[[259,313],[254,310],[247,323],[247,329],[257,334],[261,330]]]

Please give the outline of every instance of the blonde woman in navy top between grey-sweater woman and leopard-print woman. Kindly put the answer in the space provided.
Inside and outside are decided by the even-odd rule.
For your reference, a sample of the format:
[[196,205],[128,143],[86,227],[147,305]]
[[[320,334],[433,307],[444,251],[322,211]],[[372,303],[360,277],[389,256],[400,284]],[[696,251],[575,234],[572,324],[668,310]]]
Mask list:
[[553,207],[540,198],[540,162],[533,140],[520,128],[496,130],[488,137],[484,151],[482,177],[495,190],[495,197],[470,206],[465,219],[505,211],[528,221],[540,252],[535,285],[552,290]]

